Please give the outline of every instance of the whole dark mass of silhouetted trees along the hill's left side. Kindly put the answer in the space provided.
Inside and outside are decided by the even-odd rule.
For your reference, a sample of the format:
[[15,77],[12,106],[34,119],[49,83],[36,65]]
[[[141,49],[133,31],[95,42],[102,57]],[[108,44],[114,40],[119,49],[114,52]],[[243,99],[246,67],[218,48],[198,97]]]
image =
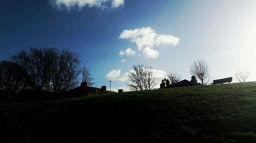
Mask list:
[[[89,72],[87,76],[91,76],[90,70],[81,68],[80,64],[76,52],[30,47],[28,51],[21,50],[11,56],[10,61],[0,62],[0,89],[9,95],[24,89],[55,93],[68,91],[77,87],[80,73]],[[90,83],[92,79],[90,77]]]

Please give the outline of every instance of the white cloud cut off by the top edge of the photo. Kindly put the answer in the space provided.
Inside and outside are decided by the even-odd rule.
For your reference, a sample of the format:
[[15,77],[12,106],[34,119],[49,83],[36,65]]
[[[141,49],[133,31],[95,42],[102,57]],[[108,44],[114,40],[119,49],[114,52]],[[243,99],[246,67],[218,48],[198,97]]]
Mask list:
[[97,7],[102,9],[118,8],[124,5],[124,0],[50,0],[57,8],[66,7],[67,10],[79,10],[83,7]]

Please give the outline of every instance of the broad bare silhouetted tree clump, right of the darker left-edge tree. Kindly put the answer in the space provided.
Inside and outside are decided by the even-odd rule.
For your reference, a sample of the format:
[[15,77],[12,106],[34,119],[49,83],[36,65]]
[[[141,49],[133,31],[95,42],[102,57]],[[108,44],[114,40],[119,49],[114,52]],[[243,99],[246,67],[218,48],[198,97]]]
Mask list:
[[11,59],[27,71],[25,79],[30,88],[60,92],[75,88],[79,82],[78,53],[30,47],[28,52],[22,50]]

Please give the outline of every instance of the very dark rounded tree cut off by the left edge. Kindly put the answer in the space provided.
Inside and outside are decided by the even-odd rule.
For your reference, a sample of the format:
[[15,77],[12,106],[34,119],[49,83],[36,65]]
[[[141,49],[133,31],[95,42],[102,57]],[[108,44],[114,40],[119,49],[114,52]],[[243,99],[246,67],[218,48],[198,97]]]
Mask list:
[[23,88],[24,71],[18,64],[10,61],[0,62],[0,88],[9,95]]

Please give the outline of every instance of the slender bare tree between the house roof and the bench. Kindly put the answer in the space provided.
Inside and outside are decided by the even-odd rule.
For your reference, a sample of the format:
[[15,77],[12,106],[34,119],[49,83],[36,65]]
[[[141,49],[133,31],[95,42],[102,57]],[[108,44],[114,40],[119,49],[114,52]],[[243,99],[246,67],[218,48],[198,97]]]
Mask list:
[[209,66],[204,60],[194,61],[189,68],[190,74],[195,75],[198,79],[200,79],[202,85],[209,83]]

